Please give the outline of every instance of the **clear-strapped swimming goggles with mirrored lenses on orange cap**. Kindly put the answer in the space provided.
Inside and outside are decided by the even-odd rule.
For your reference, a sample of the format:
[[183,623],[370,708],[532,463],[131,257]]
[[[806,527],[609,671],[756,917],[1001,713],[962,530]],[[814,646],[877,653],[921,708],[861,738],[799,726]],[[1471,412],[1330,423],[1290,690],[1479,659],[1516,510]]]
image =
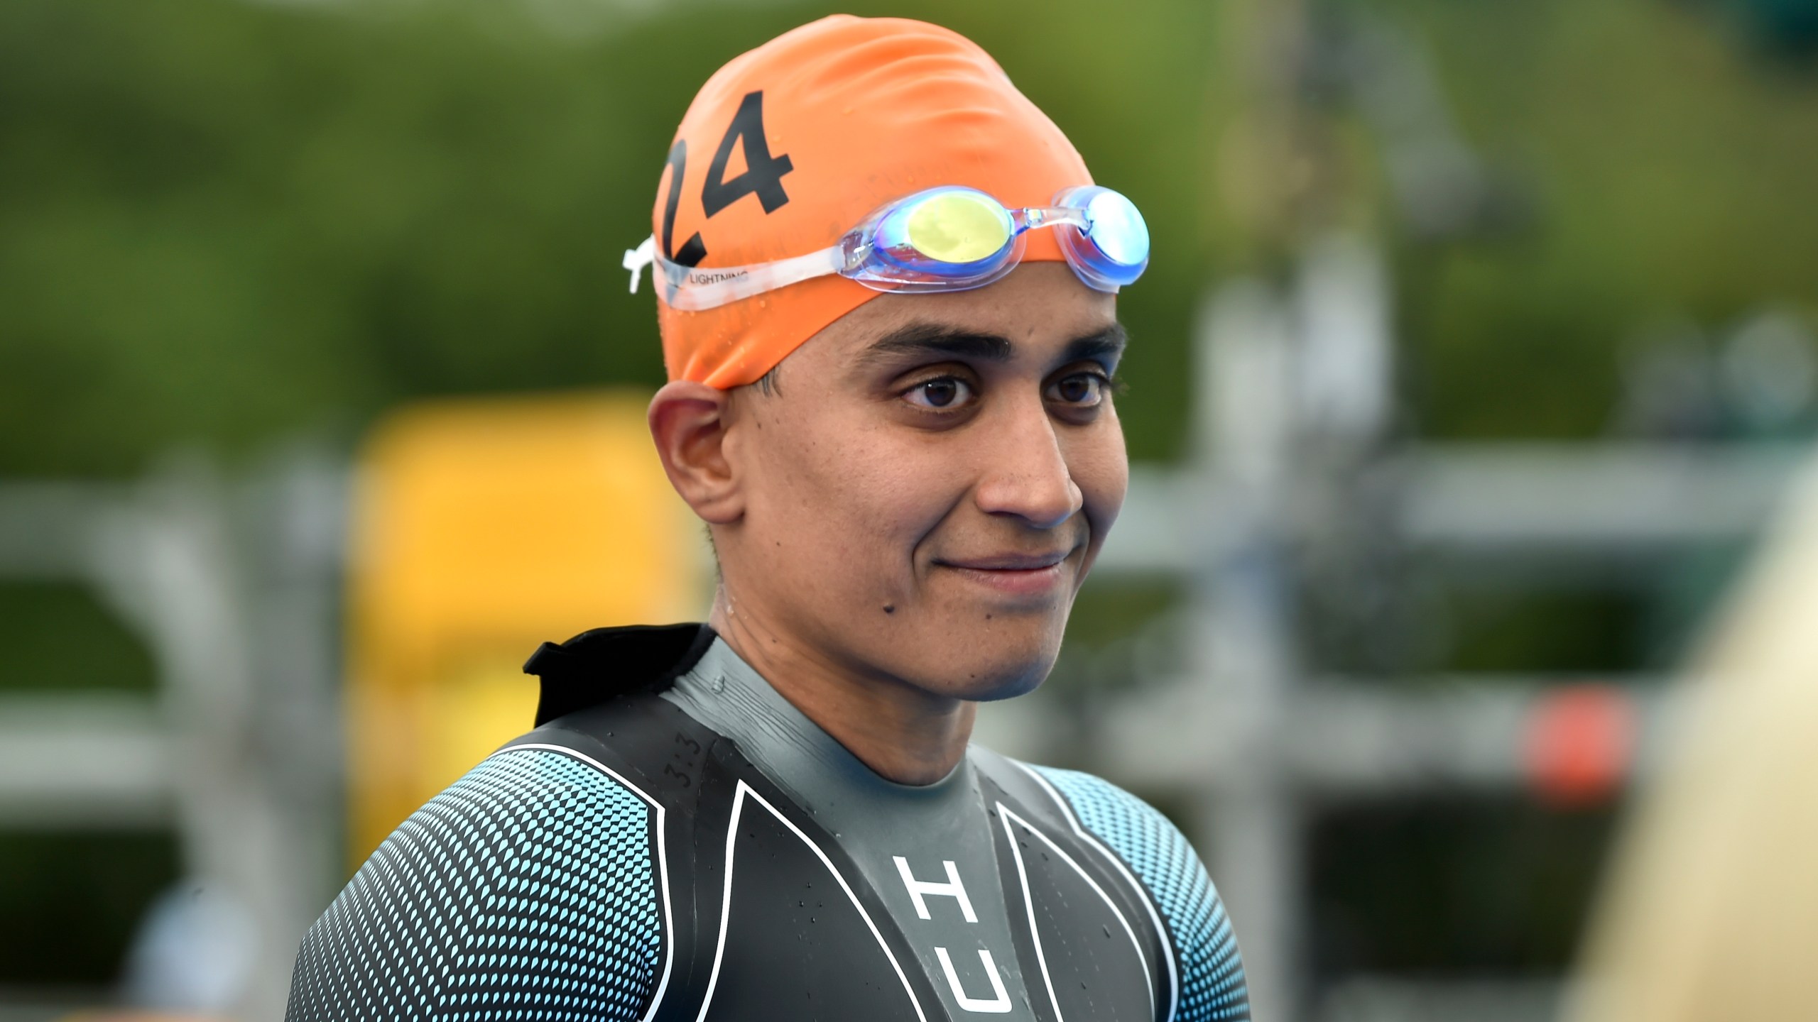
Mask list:
[[962,185],[898,198],[847,231],[833,247],[751,266],[689,267],[656,251],[656,238],[625,253],[631,293],[654,264],[664,302],[698,313],[802,280],[838,273],[874,291],[965,291],[1022,262],[1034,227],[1056,227],[1067,266],[1087,287],[1116,293],[1149,266],[1149,225],[1136,205],[1100,185],[1069,187],[1053,205],[1007,209]]

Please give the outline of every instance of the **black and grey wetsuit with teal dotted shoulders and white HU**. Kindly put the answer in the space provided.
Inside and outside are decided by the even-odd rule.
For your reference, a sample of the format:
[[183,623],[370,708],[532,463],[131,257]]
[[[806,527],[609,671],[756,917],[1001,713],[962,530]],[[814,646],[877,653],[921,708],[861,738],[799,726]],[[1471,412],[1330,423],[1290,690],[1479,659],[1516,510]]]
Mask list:
[[538,727],[309,929],[287,1018],[1249,1018],[1187,840],[973,746],[880,778],[702,626],[544,646]]

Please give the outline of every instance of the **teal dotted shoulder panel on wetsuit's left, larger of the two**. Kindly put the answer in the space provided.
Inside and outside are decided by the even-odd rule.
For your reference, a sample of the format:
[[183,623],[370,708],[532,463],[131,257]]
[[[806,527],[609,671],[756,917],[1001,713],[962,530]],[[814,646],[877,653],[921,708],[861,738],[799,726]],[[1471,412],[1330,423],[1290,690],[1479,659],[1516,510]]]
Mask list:
[[574,756],[507,749],[360,867],[304,938],[285,1018],[642,1018],[656,884],[642,798]]

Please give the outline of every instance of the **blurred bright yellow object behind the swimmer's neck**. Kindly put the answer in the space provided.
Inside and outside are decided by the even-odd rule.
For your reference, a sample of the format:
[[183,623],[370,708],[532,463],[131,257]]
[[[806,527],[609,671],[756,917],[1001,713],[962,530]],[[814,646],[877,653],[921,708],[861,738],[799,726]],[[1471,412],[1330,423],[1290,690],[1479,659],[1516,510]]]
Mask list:
[[649,395],[449,400],[385,420],[355,496],[347,686],[353,866],[527,731],[538,642],[704,609],[694,518]]

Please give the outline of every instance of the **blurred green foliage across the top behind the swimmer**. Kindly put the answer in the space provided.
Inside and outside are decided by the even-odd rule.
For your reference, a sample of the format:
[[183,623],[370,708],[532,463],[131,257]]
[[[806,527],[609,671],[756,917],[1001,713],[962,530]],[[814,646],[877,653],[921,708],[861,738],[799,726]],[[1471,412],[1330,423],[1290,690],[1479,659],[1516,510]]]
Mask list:
[[[1264,262],[1216,169],[1256,7],[845,7],[976,38],[1149,211],[1154,269],[1124,300],[1138,458],[1180,447],[1202,293]],[[1727,7],[1371,7],[1427,45],[1533,207],[1503,236],[1396,247],[1420,433],[1591,435],[1647,322],[1818,300],[1818,85]],[[618,258],[671,131],[724,60],[825,9],[5,4],[0,473],[351,438],[427,393],[660,382]],[[1369,145],[1356,218],[1394,240]]]

